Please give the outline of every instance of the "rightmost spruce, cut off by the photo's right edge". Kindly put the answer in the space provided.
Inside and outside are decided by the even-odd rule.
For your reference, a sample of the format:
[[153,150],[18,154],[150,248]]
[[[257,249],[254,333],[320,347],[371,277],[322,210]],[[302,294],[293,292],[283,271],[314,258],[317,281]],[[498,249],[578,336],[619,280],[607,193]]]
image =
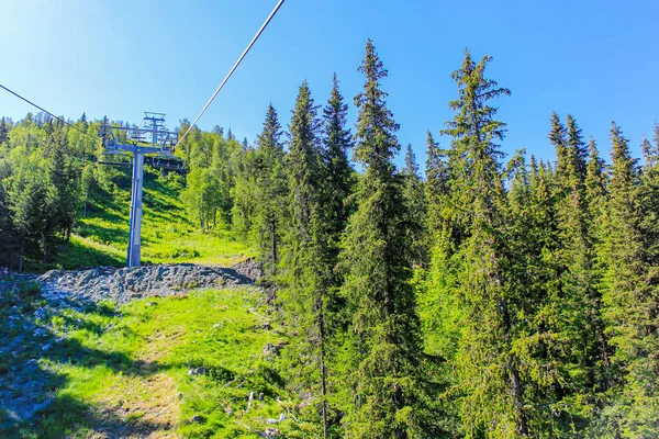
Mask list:
[[[657,304],[656,151],[646,149],[640,172],[628,140],[611,130],[612,177],[600,258],[604,264],[603,303],[606,330],[615,348],[615,381],[607,424],[622,437],[659,435],[659,348]],[[647,219],[647,221],[646,221]],[[649,238],[649,239],[648,239]]]

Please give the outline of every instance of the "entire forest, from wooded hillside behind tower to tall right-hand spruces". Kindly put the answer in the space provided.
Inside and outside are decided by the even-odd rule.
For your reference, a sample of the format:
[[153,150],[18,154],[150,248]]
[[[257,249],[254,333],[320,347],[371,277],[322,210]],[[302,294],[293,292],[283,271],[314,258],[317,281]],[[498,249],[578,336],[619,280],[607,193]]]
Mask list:
[[[371,41],[354,123],[336,76],[326,103],[304,81],[288,127],[270,105],[254,144],[193,128],[186,172],[149,171],[147,260],[264,264],[290,437],[659,437],[659,125],[638,160],[615,122],[597,144],[547,114],[556,159],[505,157],[491,61],[453,72],[423,177],[411,146],[394,165]],[[125,260],[130,173],[90,161],[98,122],[75,126],[0,123],[12,270]]]

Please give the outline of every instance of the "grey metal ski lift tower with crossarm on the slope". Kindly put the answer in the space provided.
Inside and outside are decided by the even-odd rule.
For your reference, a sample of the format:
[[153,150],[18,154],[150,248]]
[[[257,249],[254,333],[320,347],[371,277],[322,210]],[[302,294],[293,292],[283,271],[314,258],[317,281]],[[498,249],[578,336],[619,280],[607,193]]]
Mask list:
[[[145,112],[144,115],[144,125],[139,128],[112,126],[105,120],[99,132],[103,140],[103,154],[132,155],[133,159],[127,267],[139,267],[141,263],[144,156],[174,159],[174,146],[178,140],[177,133],[169,132],[165,127],[165,114]],[[120,165],[120,162],[110,162],[109,165]]]

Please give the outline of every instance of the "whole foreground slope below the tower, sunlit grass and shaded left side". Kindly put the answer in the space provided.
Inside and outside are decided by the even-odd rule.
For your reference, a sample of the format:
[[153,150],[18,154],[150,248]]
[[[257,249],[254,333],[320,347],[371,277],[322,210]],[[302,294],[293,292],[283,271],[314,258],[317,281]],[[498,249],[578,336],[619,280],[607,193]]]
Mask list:
[[[124,305],[42,293],[34,278],[5,278],[0,436],[238,438],[294,430],[295,408],[277,372],[287,341],[265,294],[232,281],[230,270],[221,274],[215,289],[172,285],[159,290],[165,296]],[[38,282],[58,275],[83,282],[89,272]],[[137,290],[136,296],[148,293]]]

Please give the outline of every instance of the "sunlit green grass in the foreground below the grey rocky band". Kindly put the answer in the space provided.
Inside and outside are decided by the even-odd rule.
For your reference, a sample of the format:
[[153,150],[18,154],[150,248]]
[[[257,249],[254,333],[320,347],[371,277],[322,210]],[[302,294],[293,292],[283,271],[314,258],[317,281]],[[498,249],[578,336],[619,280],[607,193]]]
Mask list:
[[[13,363],[38,358],[53,403],[29,426],[8,427],[0,412],[0,436],[259,437],[267,418],[294,409],[286,403],[277,359],[264,353],[266,344],[283,339],[277,328],[260,328],[267,314],[260,295],[247,286],[209,290],[44,317],[38,325],[47,339],[30,338]],[[0,323],[8,315],[0,314]],[[42,353],[44,342],[53,347]],[[0,390],[12,373],[0,379]],[[250,392],[255,401],[247,410]],[[290,419],[275,427],[282,434],[297,428]]]

